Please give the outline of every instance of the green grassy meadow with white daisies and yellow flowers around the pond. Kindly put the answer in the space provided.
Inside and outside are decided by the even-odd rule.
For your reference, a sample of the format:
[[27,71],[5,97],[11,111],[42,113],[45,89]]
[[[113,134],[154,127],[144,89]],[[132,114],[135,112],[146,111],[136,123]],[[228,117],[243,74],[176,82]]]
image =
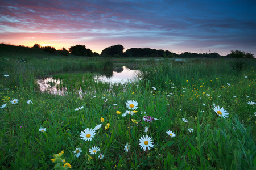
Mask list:
[[[1,169],[256,169],[255,59],[0,61]],[[138,79],[90,72],[123,65]],[[49,76],[67,93],[40,92]]]

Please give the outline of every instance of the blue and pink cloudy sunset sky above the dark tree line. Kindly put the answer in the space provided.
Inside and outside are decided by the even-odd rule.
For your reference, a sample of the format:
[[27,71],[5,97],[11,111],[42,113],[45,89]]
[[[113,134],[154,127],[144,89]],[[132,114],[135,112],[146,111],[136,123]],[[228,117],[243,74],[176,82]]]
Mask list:
[[[0,0],[0,43],[256,56],[255,0]],[[124,52],[125,52],[124,50]]]

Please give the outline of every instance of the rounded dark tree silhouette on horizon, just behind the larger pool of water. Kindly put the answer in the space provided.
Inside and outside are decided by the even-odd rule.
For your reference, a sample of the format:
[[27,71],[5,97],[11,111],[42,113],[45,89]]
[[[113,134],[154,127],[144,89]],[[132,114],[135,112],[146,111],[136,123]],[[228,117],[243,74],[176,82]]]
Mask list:
[[123,50],[125,48],[123,47],[123,45],[113,45],[110,47],[105,48],[104,50],[102,50],[101,52],[101,56],[102,57],[114,57],[115,54],[123,57]]

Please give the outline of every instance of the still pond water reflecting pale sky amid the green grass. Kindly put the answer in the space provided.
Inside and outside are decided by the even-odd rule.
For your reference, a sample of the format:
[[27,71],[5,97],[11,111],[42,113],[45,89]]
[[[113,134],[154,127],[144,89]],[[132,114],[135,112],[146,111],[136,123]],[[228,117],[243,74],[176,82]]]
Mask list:
[[[106,82],[106,83],[121,83],[125,84],[127,82],[133,82],[136,80],[136,75],[139,74],[139,70],[130,70],[125,66],[119,67],[110,73],[95,73],[94,79],[96,82]],[[76,74],[76,73],[74,73]],[[48,91],[50,94],[53,95],[64,95],[67,94],[67,88],[57,88],[61,80],[56,80],[51,77],[38,79],[36,80],[40,87],[41,92]],[[78,94],[82,94],[82,90],[77,92]]]

